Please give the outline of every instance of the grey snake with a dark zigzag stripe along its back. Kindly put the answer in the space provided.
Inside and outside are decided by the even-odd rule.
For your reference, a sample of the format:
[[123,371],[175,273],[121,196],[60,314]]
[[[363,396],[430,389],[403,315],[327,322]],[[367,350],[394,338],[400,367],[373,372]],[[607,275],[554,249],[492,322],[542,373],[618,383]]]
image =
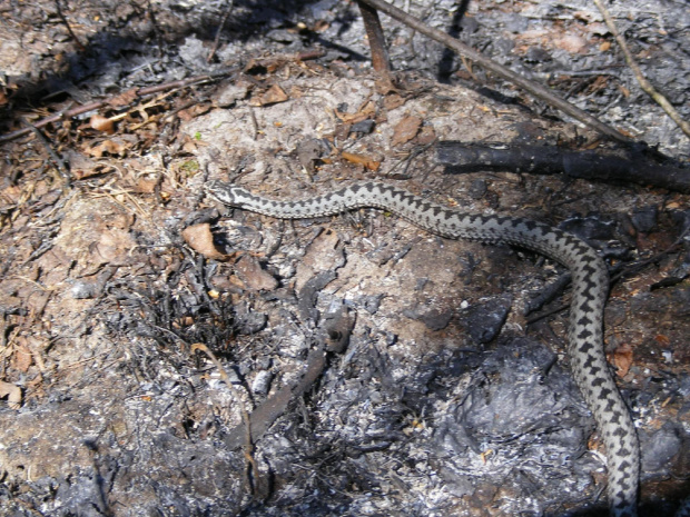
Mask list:
[[526,248],[565,266],[572,276],[566,350],[575,384],[604,443],[609,513],[612,517],[637,516],[640,446],[605,358],[603,308],[609,294],[609,272],[594,248],[543,222],[465,213],[382,182],[358,182],[299,200],[268,199],[223,181],[209,181],[205,188],[211,198],[224,205],[280,219],[378,208],[444,238]]

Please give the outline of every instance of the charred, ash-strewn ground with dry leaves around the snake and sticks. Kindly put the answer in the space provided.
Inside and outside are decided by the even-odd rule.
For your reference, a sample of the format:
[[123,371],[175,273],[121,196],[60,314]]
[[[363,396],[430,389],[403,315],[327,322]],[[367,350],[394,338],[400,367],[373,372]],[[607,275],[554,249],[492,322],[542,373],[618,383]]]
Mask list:
[[[402,3],[687,166],[690,141],[590,2]],[[568,290],[524,316],[559,265],[376,210],[230,210],[205,197],[211,179],[276,198],[382,179],[586,238],[617,278],[607,350],[642,444],[644,515],[690,493],[687,195],[448,173],[436,140],[615,146],[386,17],[396,73],[382,88],[352,3],[60,6],[79,43],[55,2],[0,2],[2,135],[108,101],[0,142],[3,515],[602,513],[601,440],[564,351]],[[687,3],[610,9],[690,117]]]

